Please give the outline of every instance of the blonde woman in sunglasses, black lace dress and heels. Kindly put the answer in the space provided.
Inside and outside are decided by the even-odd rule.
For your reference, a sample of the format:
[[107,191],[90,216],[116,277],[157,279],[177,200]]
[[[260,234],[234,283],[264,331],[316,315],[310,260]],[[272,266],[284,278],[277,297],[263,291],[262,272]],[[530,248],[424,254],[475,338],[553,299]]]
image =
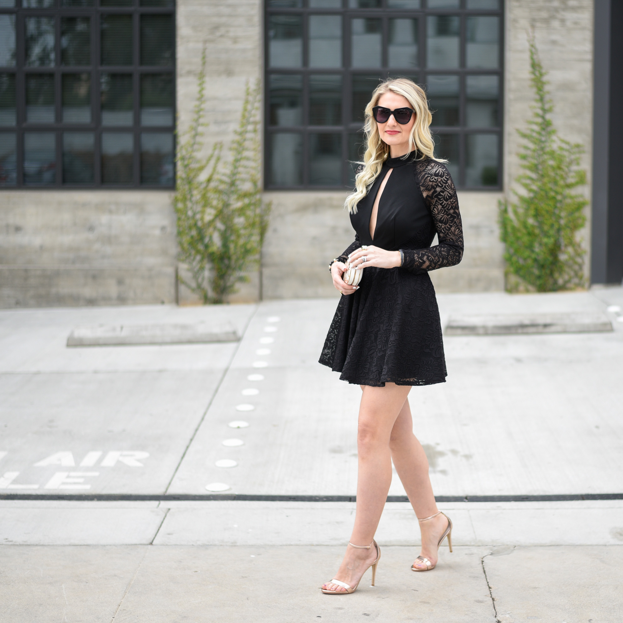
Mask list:
[[[463,233],[457,194],[435,159],[426,93],[411,80],[379,85],[366,107],[367,150],[346,199],[353,244],[330,264],[342,293],[320,363],[363,390],[358,425],[357,512],[349,546],[326,594],[354,592],[381,551],[374,541],[392,478],[392,460],[419,520],[413,571],[437,564],[452,522],[437,509],[428,461],[413,434],[407,394],[445,382],[439,310],[429,270],[459,264]],[[431,247],[435,233],[439,244]],[[348,267],[364,270],[345,283]]]

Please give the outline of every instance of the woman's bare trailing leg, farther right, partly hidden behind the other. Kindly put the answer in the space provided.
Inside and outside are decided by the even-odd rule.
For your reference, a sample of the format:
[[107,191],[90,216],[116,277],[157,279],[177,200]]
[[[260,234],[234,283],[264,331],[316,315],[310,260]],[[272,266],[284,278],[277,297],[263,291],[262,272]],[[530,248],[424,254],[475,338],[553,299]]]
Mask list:
[[[416,511],[419,519],[430,517],[437,512],[435,496],[429,477],[429,464],[422,444],[413,434],[413,422],[409,401],[406,399],[394,427],[392,428],[389,447],[391,457],[400,477],[402,486],[409,496],[409,502]],[[448,526],[448,520],[443,515],[424,521],[419,524],[422,535],[421,556],[428,558],[430,564],[437,564],[437,543]],[[414,563],[419,569],[426,569],[421,560]]]

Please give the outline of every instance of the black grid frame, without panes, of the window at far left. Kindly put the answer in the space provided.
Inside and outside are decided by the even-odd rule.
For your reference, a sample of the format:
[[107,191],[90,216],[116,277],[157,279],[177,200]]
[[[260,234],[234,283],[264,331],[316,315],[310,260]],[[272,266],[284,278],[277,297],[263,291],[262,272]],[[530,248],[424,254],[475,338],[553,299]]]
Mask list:
[[[141,0],[131,0],[130,6],[102,6],[102,0],[93,0],[93,6],[62,6],[62,0],[53,0],[52,7],[29,8],[23,7],[23,0],[15,0],[14,7],[0,7],[0,15],[14,15],[16,20],[16,62],[10,67],[0,67],[2,74],[16,76],[16,125],[0,126],[0,133],[14,133],[16,135],[16,184],[0,185],[0,190],[15,189],[138,189],[170,191],[175,188],[175,153],[176,153],[176,3],[171,0],[171,6],[141,6]],[[102,65],[101,64],[101,26],[100,19],[105,15],[132,16],[132,55],[130,65]],[[140,65],[140,29],[141,16],[163,15],[172,16],[173,58],[170,65]],[[54,17],[55,18],[55,62],[54,66],[27,67],[25,18],[26,17]],[[62,65],[61,57],[61,20],[63,17],[90,17],[90,65]],[[62,75],[90,74],[91,121],[90,123],[69,123],[62,121]],[[101,96],[100,78],[102,74],[118,73],[130,74],[133,85],[133,122],[126,126],[103,126],[101,123]],[[55,83],[55,118],[54,123],[27,123],[26,122],[26,75],[52,74]],[[141,125],[140,86],[141,76],[145,74],[171,74],[173,84],[172,123],[170,126]],[[55,181],[53,184],[24,183],[24,133],[27,131],[54,132],[55,134]],[[64,183],[63,173],[63,133],[93,132],[93,174],[92,183]],[[126,183],[102,182],[102,133],[122,132],[133,136],[133,179]],[[141,183],[141,134],[163,133],[173,138],[173,182],[171,184]]]

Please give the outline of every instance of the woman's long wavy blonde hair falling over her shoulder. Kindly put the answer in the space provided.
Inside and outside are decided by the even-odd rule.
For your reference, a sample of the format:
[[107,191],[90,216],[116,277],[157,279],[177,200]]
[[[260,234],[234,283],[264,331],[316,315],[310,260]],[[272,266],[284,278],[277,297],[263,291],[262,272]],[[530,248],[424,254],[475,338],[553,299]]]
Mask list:
[[379,135],[378,126],[372,116],[372,109],[378,105],[381,95],[390,91],[406,98],[416,115],[416,122],[413,124],[411,135],[409,136],[409,152],[404,157],[406,158],[411,151],[417,148],[417,151],[420,153],[418,159],[427,156],[437,162],[447,162],[447,160],[435,158],[434,156],[435,143],[432,140],[432,136],[430,136],[429,130],[432,115],[430,114],[424,90],[418,87],[415,82],[409,80],[409,78],[389,78],[389,80],[379,84],[374,89],[372,99],[366,106],[366,121],[364,125],[366,153],[363,156],[363,162],[357,163],[363,164],[363,169],[359,171],[355,178],[354,193],[346,197],[344,204],[351,214],[357,211],[357,204],[368,194],[371,184],[376,179],[376,176],[381,173],[383,163],[389,156],[389,145]]

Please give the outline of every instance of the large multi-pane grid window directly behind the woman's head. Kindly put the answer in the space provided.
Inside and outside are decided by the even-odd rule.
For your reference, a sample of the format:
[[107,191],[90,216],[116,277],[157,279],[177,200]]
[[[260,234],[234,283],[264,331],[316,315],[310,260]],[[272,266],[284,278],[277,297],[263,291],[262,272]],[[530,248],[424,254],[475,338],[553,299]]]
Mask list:
[[421,85],[458,188],[498,189],[501,0],[265,0],[265,186],[352,188],[379,81]]

